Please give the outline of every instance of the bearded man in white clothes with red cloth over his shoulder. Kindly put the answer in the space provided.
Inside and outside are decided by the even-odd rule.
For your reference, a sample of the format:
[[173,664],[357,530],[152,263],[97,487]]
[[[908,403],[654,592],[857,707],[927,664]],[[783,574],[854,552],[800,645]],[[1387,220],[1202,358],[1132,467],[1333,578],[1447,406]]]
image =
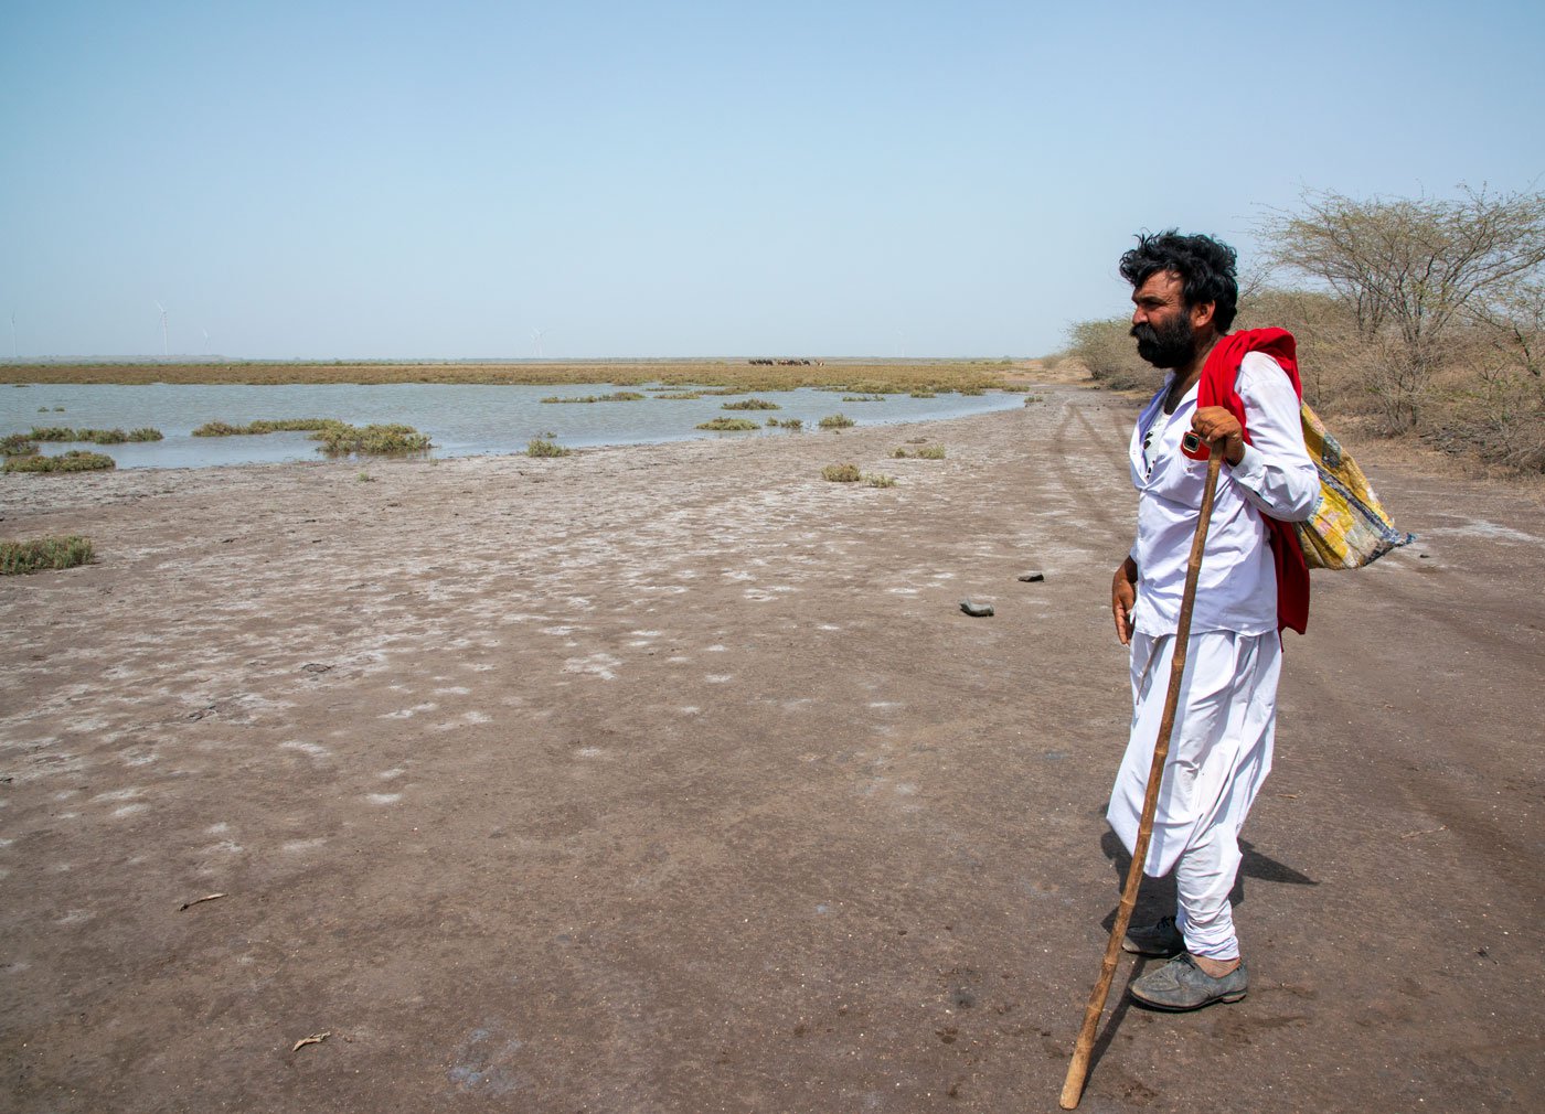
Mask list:
[[1299,425],[1293,338],[1279,329],[1228,335],[1239,297],[1233,249],[1174,230],[1142,235],[1120,270],[1132,284],[1137,352],[1170,371],[1132,431],[1137,541],[1111,587],[1115,635],[1131,647],[1132,726],[1106,819],[1128,850],[1207,474],[1205,462],[1182,451],[1183,436],[1194,431],[1225,462],[1143,864],[1153,878],[1174,870],[1176,916],[1132,929],[1123,942],[1139,955],[1174,956],[1132,983],[1132,997],[1185,1010],[1239,1001],[1248,986],[1228,893],[1239,828],[1272,769],[1279,632],[1302,632],[1309,613],[1307,570],[1281,524],[1313,515],[1319,476]]

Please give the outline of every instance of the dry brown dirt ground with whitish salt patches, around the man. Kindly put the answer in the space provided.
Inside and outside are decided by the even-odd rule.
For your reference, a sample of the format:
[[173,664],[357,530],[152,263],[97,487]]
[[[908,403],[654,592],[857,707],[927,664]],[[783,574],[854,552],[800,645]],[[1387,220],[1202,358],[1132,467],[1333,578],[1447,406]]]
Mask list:
[[[100,562],[0,586],[0,1108],[1054,1109],[1132,409],[5,476]],[[1289,635],[1250,997],[1123,967],[1085,1109],[1545,1103],[1545,511],[1361,456],[1421,541]]]

